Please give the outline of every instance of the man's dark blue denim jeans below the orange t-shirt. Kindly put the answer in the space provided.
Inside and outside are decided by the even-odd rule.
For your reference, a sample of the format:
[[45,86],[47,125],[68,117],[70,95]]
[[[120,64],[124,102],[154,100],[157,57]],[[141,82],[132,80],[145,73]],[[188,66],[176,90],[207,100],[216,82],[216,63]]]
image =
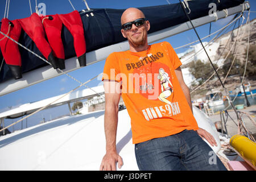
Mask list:
[[137,143],[135,156],[142,171],[227,170],[212,148],[193,130]]

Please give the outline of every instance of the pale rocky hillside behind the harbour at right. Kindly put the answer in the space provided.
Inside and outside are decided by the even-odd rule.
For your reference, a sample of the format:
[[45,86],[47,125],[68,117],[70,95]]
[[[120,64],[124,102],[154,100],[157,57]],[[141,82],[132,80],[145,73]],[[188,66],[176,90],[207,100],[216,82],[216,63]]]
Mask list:
[[[250,45],[256,44],[256,19],[251,20],[250,22]],[[233,32],[229,31],[224,35],[221,35],[217,39],[214,40],[214,42],[208,44],[207,42],[203,42],[205,49],[207,49],[207,52],[210,56],[210,59],[212,59],[213,63],[217,63],[220,67],[221,65],[225,64],[224,56],[230,51],[232,48],[232,45],[234,41],[237,39],[236,46],[235,46],[235,52],[237,52],[237,59],[242,61],[245,60],[245,52],[247,50],[247,41],[248,41],[248,30],[249,26],[245,26],[245,23],[241,28],[236,28]],[[230,38],[231,35],[231,38]],[[230,38],[230,40],[229,40]],[[228,42],[229,40],[229,42]],[[225,48],[226,47],[226,48]],[[225,48],[225,50],[224,50]],[[201,50],[201,51],[200,51]],[[222,53],[224,51],[224,53]],[[233,53],[234,49],[232,49],[231,53]],[[221,59],[220,55],[222,53]],[[208,61],[208,57],[205,54],[204,50],[202,49],[201,44],[195,44],[189,48],[188,51],[181,53],[178,55],[180,57],[181,63],[183,65],[181,66],[183,71],[183,77],[188,86],[191,86],[191,82],[195,80],[195,77],[191,75],[188,68],[188,63],[195,60],[202,60],[204,62]],[[206,77],[209,77],[210,75],[206,75]],[[222,79],[223,80],[223,79]],[[229,84],[234,85],[235,82],[239,82],[239,79],[237,78],[228,78],[226,80],[227,86],[230,87]],[[248,81],[248,80],[245,80]],[[219,86],[220,82],[216,79],[214,79],[213,82],[209,82],[208,84],[205,84],[202,88],[211,87],[214,88],[216,86]],[[191,88],[193,89],[193,88]]]

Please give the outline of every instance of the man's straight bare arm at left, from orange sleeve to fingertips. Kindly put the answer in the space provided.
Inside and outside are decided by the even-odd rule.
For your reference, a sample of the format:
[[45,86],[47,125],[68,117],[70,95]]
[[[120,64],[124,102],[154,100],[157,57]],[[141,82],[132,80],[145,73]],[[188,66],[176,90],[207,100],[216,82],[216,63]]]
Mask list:
[[123,165],[122,158],[117,154],[116,136],[118,123],[118,103],[120,100],[121,84],[115,81],[104,81],[105,89],[105,117],[104,128],[106,137],[106,154],[102,159],[100,170],[115,170],[115,164],[118,167]]

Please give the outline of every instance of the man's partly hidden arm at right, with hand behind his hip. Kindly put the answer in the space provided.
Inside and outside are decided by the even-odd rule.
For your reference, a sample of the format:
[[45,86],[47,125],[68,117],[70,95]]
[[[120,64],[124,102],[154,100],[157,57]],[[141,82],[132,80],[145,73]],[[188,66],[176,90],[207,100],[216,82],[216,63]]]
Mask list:
[[[181,89],[183,90],[186,100],[188,101],[188,105],[191,108],[191,111],[193,113],[190,92],[189,92],[188,86],[185,84],[185,82],[183,80],[183,76],[182,76],[180,67],[175,69],[175,74],[177,76],[177,80],[179,80]],[[198,130],[196,130],[196,132],[202,139],[205,138],[210,143],[211,146],[217,146],[217,143],[216,143],[214,137],[208,131],[199,128]]]

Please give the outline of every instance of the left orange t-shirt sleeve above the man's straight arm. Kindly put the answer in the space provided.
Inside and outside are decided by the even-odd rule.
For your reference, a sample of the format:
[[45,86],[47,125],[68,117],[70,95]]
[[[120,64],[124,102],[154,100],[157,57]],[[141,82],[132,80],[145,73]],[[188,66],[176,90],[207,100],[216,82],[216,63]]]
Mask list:
[[121,81],[121,78],[117,76],[118,73],[120,73],[119,61],[115,52],[113,52],[106,59],[101,80],[113,80],[119,82]]

